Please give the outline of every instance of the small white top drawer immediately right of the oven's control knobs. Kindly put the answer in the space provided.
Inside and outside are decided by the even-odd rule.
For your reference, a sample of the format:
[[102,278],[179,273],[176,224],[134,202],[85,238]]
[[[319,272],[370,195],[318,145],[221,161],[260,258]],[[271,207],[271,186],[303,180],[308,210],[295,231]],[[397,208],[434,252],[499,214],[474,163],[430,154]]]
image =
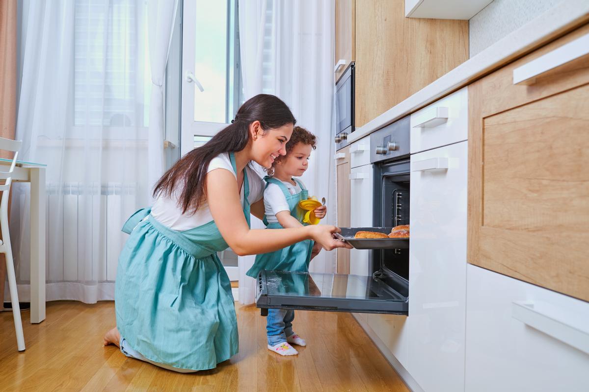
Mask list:
[[468,88],[411,115],[411,153],[462,142],[468,138]]

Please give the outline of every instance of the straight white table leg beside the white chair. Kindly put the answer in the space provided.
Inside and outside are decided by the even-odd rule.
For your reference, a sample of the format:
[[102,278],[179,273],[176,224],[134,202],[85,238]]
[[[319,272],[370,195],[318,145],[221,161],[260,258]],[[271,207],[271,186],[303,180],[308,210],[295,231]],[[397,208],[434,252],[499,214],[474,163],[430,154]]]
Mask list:
[[45,320],[45,167],[31,173],[31,323]]

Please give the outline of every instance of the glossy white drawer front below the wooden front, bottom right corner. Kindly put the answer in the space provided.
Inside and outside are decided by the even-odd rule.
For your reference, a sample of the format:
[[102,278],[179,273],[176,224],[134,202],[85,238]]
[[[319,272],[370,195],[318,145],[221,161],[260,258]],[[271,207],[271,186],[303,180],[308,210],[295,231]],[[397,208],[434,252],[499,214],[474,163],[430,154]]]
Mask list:
[[467,282],[466,391],[587,390],[589,303],[477,266]]

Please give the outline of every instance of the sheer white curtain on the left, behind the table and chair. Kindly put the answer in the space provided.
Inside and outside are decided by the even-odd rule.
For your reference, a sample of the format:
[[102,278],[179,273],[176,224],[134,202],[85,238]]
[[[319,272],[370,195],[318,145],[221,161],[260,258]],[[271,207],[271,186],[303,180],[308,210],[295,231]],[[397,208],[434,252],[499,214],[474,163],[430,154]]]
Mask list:
[[[177,0],[21,2],[16,138],[19,158],[47,164],[48,301],[114,296],[121,226],[150,205],[163,170],[176,8]],[[27,301],[28,186],[13,192],[12,247]]]

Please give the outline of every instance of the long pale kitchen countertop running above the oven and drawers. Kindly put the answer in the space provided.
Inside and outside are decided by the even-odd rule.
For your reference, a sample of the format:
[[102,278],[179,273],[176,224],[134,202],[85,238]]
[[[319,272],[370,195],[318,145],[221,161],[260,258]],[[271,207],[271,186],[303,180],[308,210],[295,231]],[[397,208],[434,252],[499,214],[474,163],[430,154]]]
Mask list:
[[589,20],[589,1],[564,0],[350,133],[350,143],[435,102]]

